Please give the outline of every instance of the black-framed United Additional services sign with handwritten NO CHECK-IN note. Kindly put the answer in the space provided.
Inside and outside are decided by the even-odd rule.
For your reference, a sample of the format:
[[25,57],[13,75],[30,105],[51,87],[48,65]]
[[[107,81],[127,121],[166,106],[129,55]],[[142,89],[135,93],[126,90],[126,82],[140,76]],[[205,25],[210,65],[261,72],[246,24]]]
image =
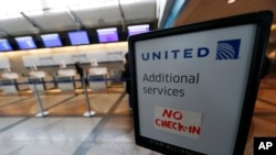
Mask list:
[[243,155],[273,14],[129,37],[136,143],[173,155]]

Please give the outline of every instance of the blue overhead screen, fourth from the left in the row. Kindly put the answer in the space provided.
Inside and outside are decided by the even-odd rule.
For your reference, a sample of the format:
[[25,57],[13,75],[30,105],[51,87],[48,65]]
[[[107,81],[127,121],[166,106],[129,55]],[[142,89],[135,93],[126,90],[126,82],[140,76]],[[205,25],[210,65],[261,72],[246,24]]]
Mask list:
[[86,31],[68,32],[71,45],[89,44],[89,38]]

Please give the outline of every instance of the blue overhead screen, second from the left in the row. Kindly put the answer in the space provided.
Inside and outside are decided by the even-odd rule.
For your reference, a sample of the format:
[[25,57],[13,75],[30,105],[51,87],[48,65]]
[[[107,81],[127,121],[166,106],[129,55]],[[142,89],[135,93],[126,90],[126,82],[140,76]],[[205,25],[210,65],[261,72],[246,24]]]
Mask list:
[[20,49],[36,48],[36,45],[34,43],[32,36],[15,37],[15,41],[17,41]]

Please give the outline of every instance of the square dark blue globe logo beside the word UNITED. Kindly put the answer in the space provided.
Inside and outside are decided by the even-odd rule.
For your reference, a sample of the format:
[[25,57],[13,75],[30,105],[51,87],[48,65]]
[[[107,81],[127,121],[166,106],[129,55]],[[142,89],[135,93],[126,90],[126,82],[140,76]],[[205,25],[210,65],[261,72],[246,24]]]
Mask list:
[[237,59],[241,40],[219,41],[215,59]]

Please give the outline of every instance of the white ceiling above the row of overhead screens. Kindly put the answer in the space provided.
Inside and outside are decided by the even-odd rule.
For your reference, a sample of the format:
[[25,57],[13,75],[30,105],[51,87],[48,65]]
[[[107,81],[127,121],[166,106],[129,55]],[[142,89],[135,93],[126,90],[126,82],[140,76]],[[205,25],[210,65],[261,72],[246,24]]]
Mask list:
[[[25,3],[32,1],[34,0],[24,0]],[[35,0],[35,2],[38,1]],[[23,13],[20,13],[21,10],[18,10],[7,15],[17,15],[17,18],[0,19],[0,36],[19,36],[108,25],[125,26],[126,24],[149,23],[157,20],[157,0],[82,0],[84,1],[83,4],[72,5],[62,5],[61,3],[65,0],[40,1],[42,9],[36,10],[43,10],[43,13],[40,15],[32,15],[34,11],[28,10],[23,10]],[[66,3],[70,1],[75,2],[74,0],[67,0]],[[114,4],[97,7],[99,1]],[[0,11],[1,13],[3,14]]]

